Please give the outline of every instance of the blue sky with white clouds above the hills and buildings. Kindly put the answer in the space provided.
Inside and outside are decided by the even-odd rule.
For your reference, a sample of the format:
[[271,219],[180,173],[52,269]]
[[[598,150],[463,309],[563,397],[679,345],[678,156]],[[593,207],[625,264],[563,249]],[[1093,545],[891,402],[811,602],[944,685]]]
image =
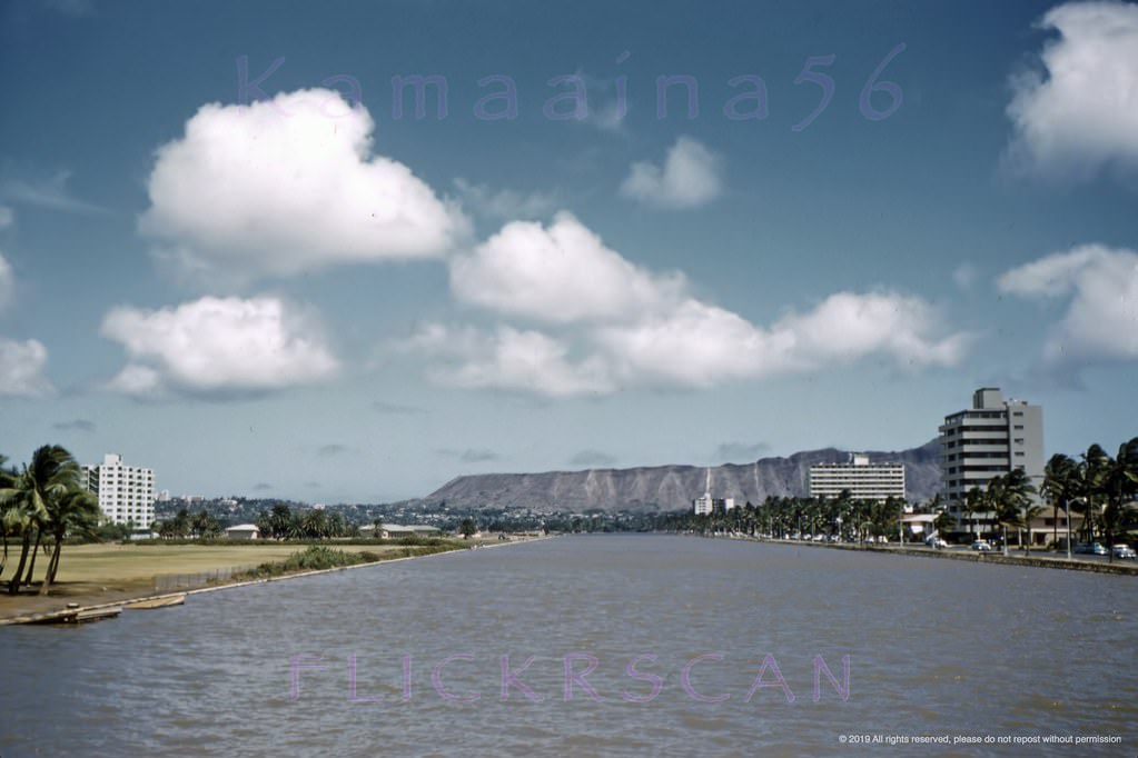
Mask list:
[[1133,3],[8,0],[0,98],[15,463],[379,502],[986,385],[1138,434]]

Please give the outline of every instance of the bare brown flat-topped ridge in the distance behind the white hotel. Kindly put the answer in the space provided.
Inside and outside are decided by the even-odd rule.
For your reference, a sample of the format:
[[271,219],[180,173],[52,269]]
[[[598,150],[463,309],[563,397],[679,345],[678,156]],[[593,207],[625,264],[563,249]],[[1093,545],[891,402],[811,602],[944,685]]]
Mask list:
[[[873,461],[905,464],[906,498],[921,502],[941,486],[940,448],[935,441],[900,452],[869,451]],[[762,458],[754,464],[711,467],[711,493],[758,503],[767,495],[806,495],[811,464],[844,463],[849,452],[826,448],[797,452],[789,458]],[[535,510],[676,510],[703,494],[704,466],[646,466],[591,468],[541,474],[477,474],[460,476],[420,502],[445,500],[464,508],[500,507]]]

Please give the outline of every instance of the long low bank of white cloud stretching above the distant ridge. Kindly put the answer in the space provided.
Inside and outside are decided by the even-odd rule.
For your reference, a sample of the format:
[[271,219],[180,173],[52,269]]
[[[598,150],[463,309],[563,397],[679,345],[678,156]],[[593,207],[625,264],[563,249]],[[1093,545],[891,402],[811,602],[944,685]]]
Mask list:
[[893,292],[839,292],[769,327],[692,298],[671,313],[578,326],[551,336],[509,326],[485,333],[435,324],[405,347],[443,359],[430,373],[443,384],[566,397],[637,386],[711,389],[872,356],[909,370],[955,366],[971,339],[943,334],[935,309]]

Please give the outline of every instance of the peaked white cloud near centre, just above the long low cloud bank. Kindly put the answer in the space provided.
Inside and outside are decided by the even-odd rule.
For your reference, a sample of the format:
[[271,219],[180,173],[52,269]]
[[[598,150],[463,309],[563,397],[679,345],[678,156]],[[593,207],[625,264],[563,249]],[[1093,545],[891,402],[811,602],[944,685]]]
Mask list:
[[628,319],[679,301],[684,277],[653,275],[604,247],[571,215],[549,227],[506,224],[451,263],[451,289],[465,302],[547,323]]

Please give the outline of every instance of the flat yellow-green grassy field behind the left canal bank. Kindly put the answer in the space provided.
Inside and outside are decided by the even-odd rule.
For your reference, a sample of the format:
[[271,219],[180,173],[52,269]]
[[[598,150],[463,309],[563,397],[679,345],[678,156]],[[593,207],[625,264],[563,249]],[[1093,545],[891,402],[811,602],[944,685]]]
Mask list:
[[[329,547],[346,552],[366,550],[382,556],[402,551],[401,545],[346,544]],[[64,545],[59,559],[60,583],[84,584],[135,583],[152,580],[158,574],[196,574],[215,568],[256,566],[267,560],[284,560],[303,551],[303,544],[76,544]],[[35,581],[43,578],[48,559],[36,559]]]

